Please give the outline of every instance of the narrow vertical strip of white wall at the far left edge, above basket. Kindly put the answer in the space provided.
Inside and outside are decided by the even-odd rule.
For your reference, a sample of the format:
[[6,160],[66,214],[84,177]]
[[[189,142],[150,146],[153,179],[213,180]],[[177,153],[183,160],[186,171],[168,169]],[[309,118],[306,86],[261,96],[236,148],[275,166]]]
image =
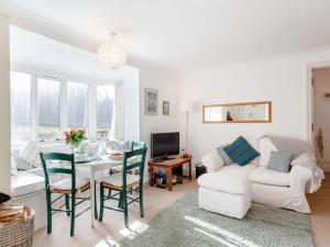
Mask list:
[[10,193],[9,18],[0,14],[0,192]]

